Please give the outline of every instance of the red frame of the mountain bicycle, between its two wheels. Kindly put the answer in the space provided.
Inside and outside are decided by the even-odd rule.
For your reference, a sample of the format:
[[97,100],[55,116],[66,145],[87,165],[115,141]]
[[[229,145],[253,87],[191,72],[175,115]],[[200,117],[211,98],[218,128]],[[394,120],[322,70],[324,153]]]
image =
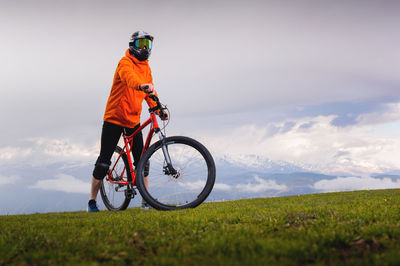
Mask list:
[[[158,126],[158,121],[157,121],[157,117],[156,114],[154,114],[154,112],[150,112],[150,118],[146,120],[146,122],[144,122],[135,132],[133,132],[132,135],[127,136],[125,135],[125,133],[122,134],[123,140],[124,140],[124,147],[122,148],[121,153],[119,154],[117,160],[115,161],[114,165],[112,166],[112,168],[110,169],[108,175],[107,175],[107,179],[109,182],[114,183],[114,184],[120,184],[120,185],[129,185],[129,184],[135,184],[135,180],[136,180],[136,174],[134,172],[134,168],[133,168],[133,160],[132,160],[132,141],[133,141],[133,137],[136,136],[139,132],[141,132],[145,127],[147,127],[149,124],[151,124],[149,133],[147,134],[147,138],[146,138],[146,142],[144,144],[143,147],[143,151],[142,154],[149,148],[150,143],[151,143],[151,139],[153,138],[154,132],[160,132],[160,128]],[[161,132],[160,132],[161,133]],[[126,169],[124,167],[124,169],[121,172],[121,178],[122,180],[112,180],[111,176],[112,173],[115,169],[115,166],[117,165],[118,161],[121,159],[121,157],[126,154],[127,158],[128,158],[128,165],[129,165],[129,169]],[[132,181],[128,181],[123,179],[123,175],[125,171],[129,171],[130,175],[132,177]]]

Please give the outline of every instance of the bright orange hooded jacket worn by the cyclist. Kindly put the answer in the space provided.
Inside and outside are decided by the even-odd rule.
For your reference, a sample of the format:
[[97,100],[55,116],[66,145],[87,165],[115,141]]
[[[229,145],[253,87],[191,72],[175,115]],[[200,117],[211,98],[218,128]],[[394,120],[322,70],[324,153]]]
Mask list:
[[143,99],[150,107],[156,105],[146,93],[139,91],[143,83],[153,84],[149,62],[137,60],[128,49],[115,70],[104,121],[128,128],[139,124]]

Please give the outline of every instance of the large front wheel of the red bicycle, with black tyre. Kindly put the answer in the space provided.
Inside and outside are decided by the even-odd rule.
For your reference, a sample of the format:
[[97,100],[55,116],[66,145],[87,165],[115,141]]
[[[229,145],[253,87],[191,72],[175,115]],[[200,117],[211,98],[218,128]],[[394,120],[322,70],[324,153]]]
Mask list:
[[[188,137],[168,137],[164,144],[163,149],[161,141],[154,143],[139,161],[136,183],[140,194],[158,210],[198,206],[210,194],[215,182],[215,163],[210,152]],[[172,168],[167,165],[165,153]],[[148,162],[150,167],[145,169]],[[147,186],[145,170],[148,170]]]

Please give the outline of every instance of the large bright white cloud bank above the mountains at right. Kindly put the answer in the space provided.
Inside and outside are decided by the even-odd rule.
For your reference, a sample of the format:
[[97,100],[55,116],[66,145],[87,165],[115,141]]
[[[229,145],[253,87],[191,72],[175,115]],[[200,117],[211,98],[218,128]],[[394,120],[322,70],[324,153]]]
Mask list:
[[[212,134],[195,134],[219,157],[254,154],[326,174],[385,173],[400,169],[400,122],[396,122],[400,108],[388,110],[380,116],[375,114],[373,121],[379,121],[379,117],[392,121],[390,117],[394,119],[391,123],[369,120],[338,127],[332,123],[335,115],[310,116],[244,123],[237,128],[214,128]],[[362,121],[367,121],[366,115]],[[271,128],[277,130],[271,134]]]

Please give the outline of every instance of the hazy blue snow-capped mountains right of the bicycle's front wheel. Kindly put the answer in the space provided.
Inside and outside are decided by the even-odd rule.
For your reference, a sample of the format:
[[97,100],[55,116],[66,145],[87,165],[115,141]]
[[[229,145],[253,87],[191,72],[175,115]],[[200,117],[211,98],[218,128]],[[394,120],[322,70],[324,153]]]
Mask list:
[[215,158],[215,163],[217,179],[211,200],[313,193],[317,192],[315,182],[335,178],[257,155],[223,156]]

